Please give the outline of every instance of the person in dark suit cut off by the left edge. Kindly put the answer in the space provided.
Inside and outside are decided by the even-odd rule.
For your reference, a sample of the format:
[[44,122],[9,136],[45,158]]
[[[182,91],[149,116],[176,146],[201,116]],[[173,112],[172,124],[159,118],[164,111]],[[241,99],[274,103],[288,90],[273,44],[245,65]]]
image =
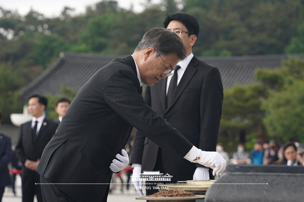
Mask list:
[[[2,123],[2,115],[0,113],[0,125]],[[0,132],[0,202],[6,186],[11,185],[11,177],[8,165],[12,158],[11,137]]]

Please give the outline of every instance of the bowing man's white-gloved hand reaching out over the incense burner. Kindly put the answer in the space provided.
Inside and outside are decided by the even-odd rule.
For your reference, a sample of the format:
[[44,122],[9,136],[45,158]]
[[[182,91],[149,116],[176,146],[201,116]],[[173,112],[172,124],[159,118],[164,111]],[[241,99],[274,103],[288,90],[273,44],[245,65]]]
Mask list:
[[220,176],[225,168],[226,161],[216,151],[202,151],[201,149],[193,146],[184,158],[193,163],[199,163],[203,166],[213,169],[213,175]]

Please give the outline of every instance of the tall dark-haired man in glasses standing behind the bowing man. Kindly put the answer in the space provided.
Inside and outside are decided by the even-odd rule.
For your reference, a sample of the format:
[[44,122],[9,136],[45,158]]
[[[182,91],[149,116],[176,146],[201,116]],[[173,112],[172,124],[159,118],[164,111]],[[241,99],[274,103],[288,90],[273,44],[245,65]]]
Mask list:
[[[172,77],[147,86],[144,100],[195,146],[215,151],[223,100],[220,73],[192,53],[200,32],[195,17],[174,13],[167,16],[164,27],[181,38],[187,58],[177,64]],[[175,89],[171,88],[174,82]],[[142,171],[160,171],[173,176],[170,183],[209,179],[209,168],[186,160],[176,161],[144,135],[140,131],[135,135],[130,161],[134,168],[133,176],[139,176]],[[140,183],[134,181],[136,187]],[[158,191],[153,187],[156,186],[146,189],[147,195]],[[141,190],[137,191],[143,195]]]

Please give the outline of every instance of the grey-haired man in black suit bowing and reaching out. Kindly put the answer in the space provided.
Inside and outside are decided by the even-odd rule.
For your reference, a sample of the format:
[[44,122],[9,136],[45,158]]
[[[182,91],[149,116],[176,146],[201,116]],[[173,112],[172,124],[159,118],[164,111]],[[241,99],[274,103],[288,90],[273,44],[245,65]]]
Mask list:
[[106,201],[112,175],[109,165],[133,126],[172,158],[211,166],[217,174],[225,169],[218,153],[193,146],[141,96],[142,83],[152,86],[166,78],[185,56],[175,33],[155,28],[144,34],[132,55],[113,60],[88,80],[37,167],[44,202]]

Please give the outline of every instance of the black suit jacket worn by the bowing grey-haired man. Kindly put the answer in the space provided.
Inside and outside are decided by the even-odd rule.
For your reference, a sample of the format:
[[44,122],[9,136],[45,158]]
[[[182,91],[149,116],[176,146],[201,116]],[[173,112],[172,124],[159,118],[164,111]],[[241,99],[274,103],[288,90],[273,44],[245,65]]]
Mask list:
[[192,144],[154,112],[141,96],[132,56],[97,71],[73,99],[46,146],[37,172],[75,201],[101,201],[111,161],[125,146],[132,126],[176,159]]

